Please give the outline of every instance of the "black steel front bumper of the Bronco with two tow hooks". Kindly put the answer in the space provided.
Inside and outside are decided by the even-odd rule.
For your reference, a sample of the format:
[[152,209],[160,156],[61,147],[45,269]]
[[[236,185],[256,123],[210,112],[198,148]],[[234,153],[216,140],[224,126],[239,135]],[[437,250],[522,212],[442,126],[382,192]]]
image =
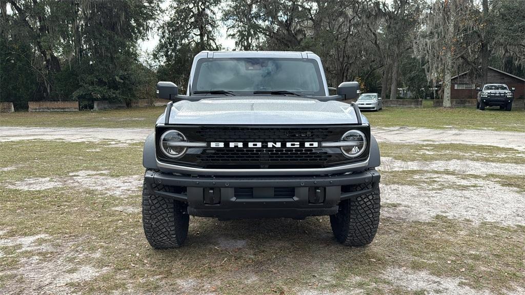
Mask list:
[[340,201],[372,192],[380,178],[375,170],[335,176],[144,175],[151,194],[187,203],[190,215],[220,219],[335,214]]

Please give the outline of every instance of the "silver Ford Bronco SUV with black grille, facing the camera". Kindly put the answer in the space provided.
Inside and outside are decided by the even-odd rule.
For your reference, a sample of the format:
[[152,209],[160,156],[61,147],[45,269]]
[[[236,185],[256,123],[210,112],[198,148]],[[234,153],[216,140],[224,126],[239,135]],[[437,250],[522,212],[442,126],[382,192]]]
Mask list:
[[145,236],[183,245],[190,215],[296,218],[329,215],[335,238],[371,243],[379,225],[380,153],[356,104],[358,82],[330,96],[312,52],[203,51],[185,95],[170,99],[144,144]]

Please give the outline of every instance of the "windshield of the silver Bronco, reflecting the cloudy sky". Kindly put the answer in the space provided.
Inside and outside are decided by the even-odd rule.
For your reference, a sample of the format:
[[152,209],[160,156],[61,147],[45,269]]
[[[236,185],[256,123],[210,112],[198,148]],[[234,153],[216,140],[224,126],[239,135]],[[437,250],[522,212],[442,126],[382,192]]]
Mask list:
[[199,59],[192,92],[213,90],[240,95],[287,90],[304,96],[325,96],[317,62],[299,58]]

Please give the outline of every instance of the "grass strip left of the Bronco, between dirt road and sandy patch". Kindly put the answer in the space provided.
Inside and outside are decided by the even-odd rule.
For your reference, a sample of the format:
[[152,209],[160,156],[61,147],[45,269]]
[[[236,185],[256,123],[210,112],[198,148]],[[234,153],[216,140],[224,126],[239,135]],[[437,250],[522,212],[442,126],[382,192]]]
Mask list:
[[[122,148],[109,142],[12,141],[0,142],[0,167],[13,170],[0,174],[1,181],[20,181],[26,177],[60,179],[78,171],[108,171],[108,176],[139,175],[143,144]],[[14,153],[13,151],[16,151]]]

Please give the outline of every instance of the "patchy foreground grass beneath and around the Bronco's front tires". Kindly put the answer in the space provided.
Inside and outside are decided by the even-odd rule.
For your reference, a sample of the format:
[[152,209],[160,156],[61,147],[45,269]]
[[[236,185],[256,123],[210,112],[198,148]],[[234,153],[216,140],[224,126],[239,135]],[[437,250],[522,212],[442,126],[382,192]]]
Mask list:
[[[13,193],[15,198],[2,209],[10,213],[0,221],[2,228],[12,228],[9,236],[46,233],[57,244],[71,246],[5,256],[0,266],[16,270],[23,258],[37,254],[51,262],[68,257],[70,264],[61,262],[68,272],[80,266],[108,270],[92,280],[70,283],[76,292],[163,293],[191,285],[181,292],[295,294],[302,289],[362,289],[386,294],[396,283],[382,276],[390,268],[459,277],[471,288],[495,293],[525,279],[521,271],[525,229],[520,227],[476,226],[444,217],[426,223],[382,218],[371,246],[348,248],[335,243],[326,217],[230,222],[192,218],[184,248],[158,251],[143,237],[140,213],[106,210],[122,201],[88,191],[57,195],[2,189],[0,195]],[[130,197],[139,202],[137,195]],[[34,202],[25,204],[27,198]],[[23,213],[17,213],[22,204]],[[227,249],[220,246],[221,240],[243,240],[247,245]]]

